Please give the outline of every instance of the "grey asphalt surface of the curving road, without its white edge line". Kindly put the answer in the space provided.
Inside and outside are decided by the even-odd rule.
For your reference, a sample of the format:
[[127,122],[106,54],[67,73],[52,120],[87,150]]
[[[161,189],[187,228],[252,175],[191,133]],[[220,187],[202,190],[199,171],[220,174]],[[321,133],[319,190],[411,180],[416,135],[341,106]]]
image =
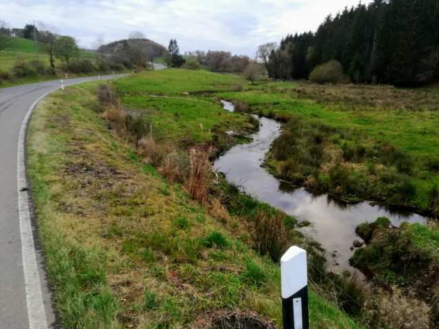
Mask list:
[[[161,67],[160,67],[161,68]],[[111,79],[121,75],[102,76]],[[79,84],[97,80],[83,77],[64,80],[64,84]],[[17,145],[23,118],[41,96],[60,87],[60,80],[0,89],[0,328],[43,329],[32,325],[27,309],[29,293],[23,271],[21,219],[17,193]],[[32,212],[32,211],[31,211]],[[32,226],[32,231],[35,226]],[[43,292],[47,326],[55,328],[56,318],[51,307],[51,293],[47,287],[43,256],[36,241],[36,262]],[[29,282],[29,281],[28,281]],[[34,304],[32,304],[34,303]],[[35,305],[35,301],[29,305]],[[33,306],[32,306],[33,307]]]

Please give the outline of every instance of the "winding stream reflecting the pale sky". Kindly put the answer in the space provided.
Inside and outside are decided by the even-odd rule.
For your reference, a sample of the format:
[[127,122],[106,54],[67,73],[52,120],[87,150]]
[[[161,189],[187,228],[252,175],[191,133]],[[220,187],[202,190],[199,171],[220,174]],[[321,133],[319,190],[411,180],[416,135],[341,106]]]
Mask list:
[[[233,111],[233,103],[222,101],[225,110]],[[256,116],[254,116],[256,117]],[[259,132],[252,134],[253,142],[231,148],[214,164],[217,171],[226,175],[228,182],[237,184],[242,191],[271,206],[293,215],[311,226],[301,230],[322,244],[333,271],[351,269],[348,259],[357,238],[355,228],[365,221],[385,216],[394,226],[403,221],[425,223],[427,219],[416,214],[395,214],[368,202],[355,205],[340,204],[328,195],[313,196],[305,188],[292,188],[265,171],[261,164],[272,142],[281,134],[281,124],[259,117]]]

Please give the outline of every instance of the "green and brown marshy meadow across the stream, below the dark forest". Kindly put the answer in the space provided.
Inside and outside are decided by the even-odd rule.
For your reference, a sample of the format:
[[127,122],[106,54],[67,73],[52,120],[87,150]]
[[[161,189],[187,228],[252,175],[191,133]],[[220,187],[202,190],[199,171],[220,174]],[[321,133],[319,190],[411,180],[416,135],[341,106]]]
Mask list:
[[437,91],[270,82],[219,95],[288,121],[267,161],[276,175],[343,199],[438,214]]

